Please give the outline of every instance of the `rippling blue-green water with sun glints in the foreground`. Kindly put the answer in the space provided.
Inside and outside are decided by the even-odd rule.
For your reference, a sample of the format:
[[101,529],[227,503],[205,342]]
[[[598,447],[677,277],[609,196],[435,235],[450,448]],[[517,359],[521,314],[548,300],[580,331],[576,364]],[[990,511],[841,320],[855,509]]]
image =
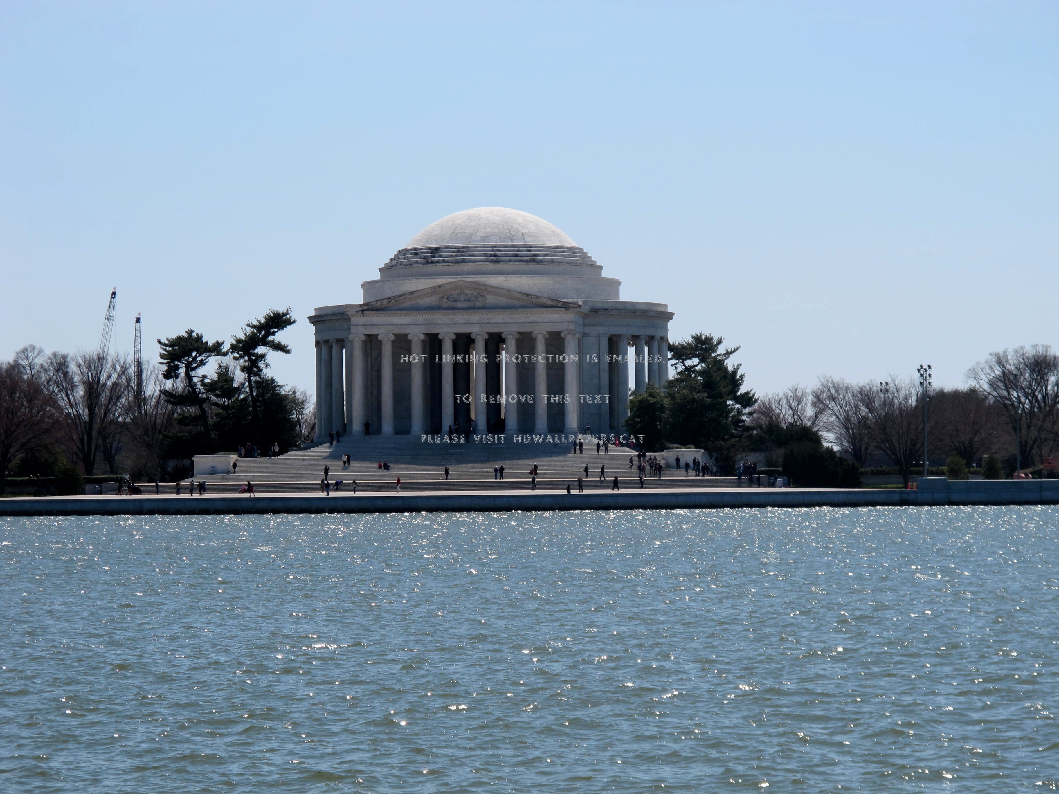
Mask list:
[[1054,790],[1048,507],[0,521],[0,791]]

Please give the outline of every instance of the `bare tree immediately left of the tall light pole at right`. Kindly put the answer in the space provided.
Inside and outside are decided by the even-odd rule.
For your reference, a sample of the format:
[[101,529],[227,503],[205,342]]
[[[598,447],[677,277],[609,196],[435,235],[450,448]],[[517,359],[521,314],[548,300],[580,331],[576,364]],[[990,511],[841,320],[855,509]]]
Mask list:
[[912,467],[922,461],[923,419],[919,385],[891,376],[878,390],[865,390],[864,408],[872,420],[872,440],[901,470],[905,487]]

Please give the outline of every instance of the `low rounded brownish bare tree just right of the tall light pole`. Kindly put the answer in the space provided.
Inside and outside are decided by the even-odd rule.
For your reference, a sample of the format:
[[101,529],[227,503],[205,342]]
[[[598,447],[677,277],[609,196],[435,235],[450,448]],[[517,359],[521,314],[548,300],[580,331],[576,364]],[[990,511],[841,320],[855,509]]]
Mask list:
[[[931,397],[935,436],[947,454],[968,466],[994,452],[1004,428],[1001,407],[977,389],[939,389]],[[931,441],[933,447],[934,443]]]

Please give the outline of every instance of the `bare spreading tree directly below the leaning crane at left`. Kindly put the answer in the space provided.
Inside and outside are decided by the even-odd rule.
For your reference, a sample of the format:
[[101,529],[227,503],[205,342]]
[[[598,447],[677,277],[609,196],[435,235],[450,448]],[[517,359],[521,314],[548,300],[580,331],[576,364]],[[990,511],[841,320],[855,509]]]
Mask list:
[[73,356],[53,353],[48,383],[62,414],[61,427],[85,473],[95,472],[104,438],[122,418],[129,391],[129,364],[97,350]]

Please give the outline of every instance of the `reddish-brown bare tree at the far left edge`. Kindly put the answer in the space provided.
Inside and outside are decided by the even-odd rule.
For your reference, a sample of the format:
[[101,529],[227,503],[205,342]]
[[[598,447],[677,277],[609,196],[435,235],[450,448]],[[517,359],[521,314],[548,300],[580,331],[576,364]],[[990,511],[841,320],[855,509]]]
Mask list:
[[0,362],[0,494],[11,465],[44,446],[55,425],[54,403],[25,363],[18,354],[15,361]]

